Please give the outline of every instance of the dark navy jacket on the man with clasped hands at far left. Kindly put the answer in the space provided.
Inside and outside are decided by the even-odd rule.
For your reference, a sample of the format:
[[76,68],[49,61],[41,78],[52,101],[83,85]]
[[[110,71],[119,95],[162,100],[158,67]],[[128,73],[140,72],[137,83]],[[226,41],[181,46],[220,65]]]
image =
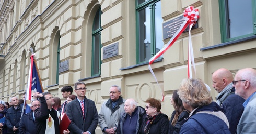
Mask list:
[[23,104],[17,106],[17,109],[14,109],[14,106],[11,106],[6,113],[5,116],[5,124],[7,126],[7,133],[19,133],[19,129],[17,131],[13,131],[13,127],[19,128],[19,121],[22,113]]

